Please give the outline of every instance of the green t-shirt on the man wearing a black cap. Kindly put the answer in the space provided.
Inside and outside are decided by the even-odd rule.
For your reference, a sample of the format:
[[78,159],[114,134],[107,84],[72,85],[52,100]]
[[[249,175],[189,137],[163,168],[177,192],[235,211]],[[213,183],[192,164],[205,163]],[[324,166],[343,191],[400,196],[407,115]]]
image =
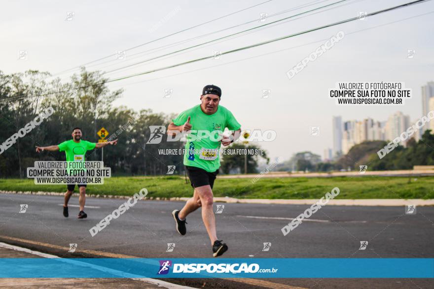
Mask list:
[[[225,107],[219,105],[214,114],[206,114],[196,105],[187,109],[173,120],[175,126],[182,126],[190,117],[191,135],[185,143],[184,165],[202,168],[208,172],[215,172],[220,167],[220,156],[218,149],[221,142],[216,141],[218,131],[223,132],[225,128],[237,130],[241,125],[233,114]],[[198,138],[198,130],[209,131],[211,136]],[[200,135],[200,134],[199,134]]]

